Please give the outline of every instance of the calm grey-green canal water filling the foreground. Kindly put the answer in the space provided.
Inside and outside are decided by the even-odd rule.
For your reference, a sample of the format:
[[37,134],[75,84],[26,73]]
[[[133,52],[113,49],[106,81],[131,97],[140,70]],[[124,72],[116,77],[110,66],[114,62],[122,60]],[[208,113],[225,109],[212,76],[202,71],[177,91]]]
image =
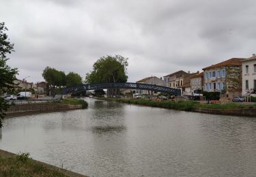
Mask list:
[[256,118],[86,100],[5,118],[0,148],[88,176],[256,176]]

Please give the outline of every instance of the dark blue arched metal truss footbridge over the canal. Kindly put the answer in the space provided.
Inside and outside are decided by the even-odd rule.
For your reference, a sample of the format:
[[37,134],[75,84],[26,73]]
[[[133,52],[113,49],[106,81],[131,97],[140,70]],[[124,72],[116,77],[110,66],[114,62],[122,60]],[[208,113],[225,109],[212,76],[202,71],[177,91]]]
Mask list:
[[62,94],[66,95],[67,93],[77,93],[81,91],[91,91],[91,90],[100,90],[100,89],[134,89],[134,90],[145,90],[145,91],[156,91],[160,93],[168,93],[170,95],[180,96],[180,89],[169,88],[167,86],[158,86],[153,84],[139,84],[139,83],[102,83],[102,84],[83,84],[80,86],[74,86],[69,88],[62,88]]

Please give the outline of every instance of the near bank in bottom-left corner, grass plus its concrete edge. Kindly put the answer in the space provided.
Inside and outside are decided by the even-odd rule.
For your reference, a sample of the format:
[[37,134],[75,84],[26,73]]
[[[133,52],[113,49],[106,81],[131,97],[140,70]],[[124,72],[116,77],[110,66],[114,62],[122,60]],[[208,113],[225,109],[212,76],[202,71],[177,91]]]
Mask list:
[[84,176],[29,158],[0,150],[0,176]]

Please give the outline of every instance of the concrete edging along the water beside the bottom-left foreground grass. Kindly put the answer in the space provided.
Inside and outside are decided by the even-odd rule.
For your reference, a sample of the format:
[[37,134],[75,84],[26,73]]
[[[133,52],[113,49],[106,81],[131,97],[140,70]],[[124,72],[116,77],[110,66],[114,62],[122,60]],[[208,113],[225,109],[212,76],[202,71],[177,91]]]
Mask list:
[[[8,152],[8,151],[5,151],[5,150],[1,150],[0,149],[0,157],[1,158],[10,158],[10,157],[16,157],[16,154],[12,153],[12,152]],[[66,176],[81,176],[81,177],[86,177],[82,174],[77,174],[75,172],[71,172],[69,170],[65,170],[63,168],[60,168],[60,167],[55,167],[53,165],[50,165],[48,163],[43,163],[41,161],[36,161],[36,160],[33,160],[31,159],[31,161],[33,161],[33,163],[37,163],[38,165],[42,166],[42,167],[46,167],[47,169],[51,169],[51,170],[55,170],[56,172],[61,172],[63,174],[65,174]]]

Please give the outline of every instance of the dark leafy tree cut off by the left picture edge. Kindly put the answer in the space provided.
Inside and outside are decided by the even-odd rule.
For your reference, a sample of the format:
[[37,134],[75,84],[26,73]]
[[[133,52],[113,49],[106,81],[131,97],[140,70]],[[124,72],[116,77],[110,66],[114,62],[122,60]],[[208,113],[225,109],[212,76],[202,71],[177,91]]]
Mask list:
[[[8,29],[5,27],[5,23],[0,23],[0,95],[3,93],[12,91],[14,89],[14,80],[16,79],[16,74],[18,74],[17,68],[11,68],[6,64],[8,57],[6,54],[11,54],[14,52],[14,44],[11,44],[8,35],[6,34]],[[1,120],[5,116],[5,111],[8,110],[9,105],[0,97],[0,127],[2,127]]]

